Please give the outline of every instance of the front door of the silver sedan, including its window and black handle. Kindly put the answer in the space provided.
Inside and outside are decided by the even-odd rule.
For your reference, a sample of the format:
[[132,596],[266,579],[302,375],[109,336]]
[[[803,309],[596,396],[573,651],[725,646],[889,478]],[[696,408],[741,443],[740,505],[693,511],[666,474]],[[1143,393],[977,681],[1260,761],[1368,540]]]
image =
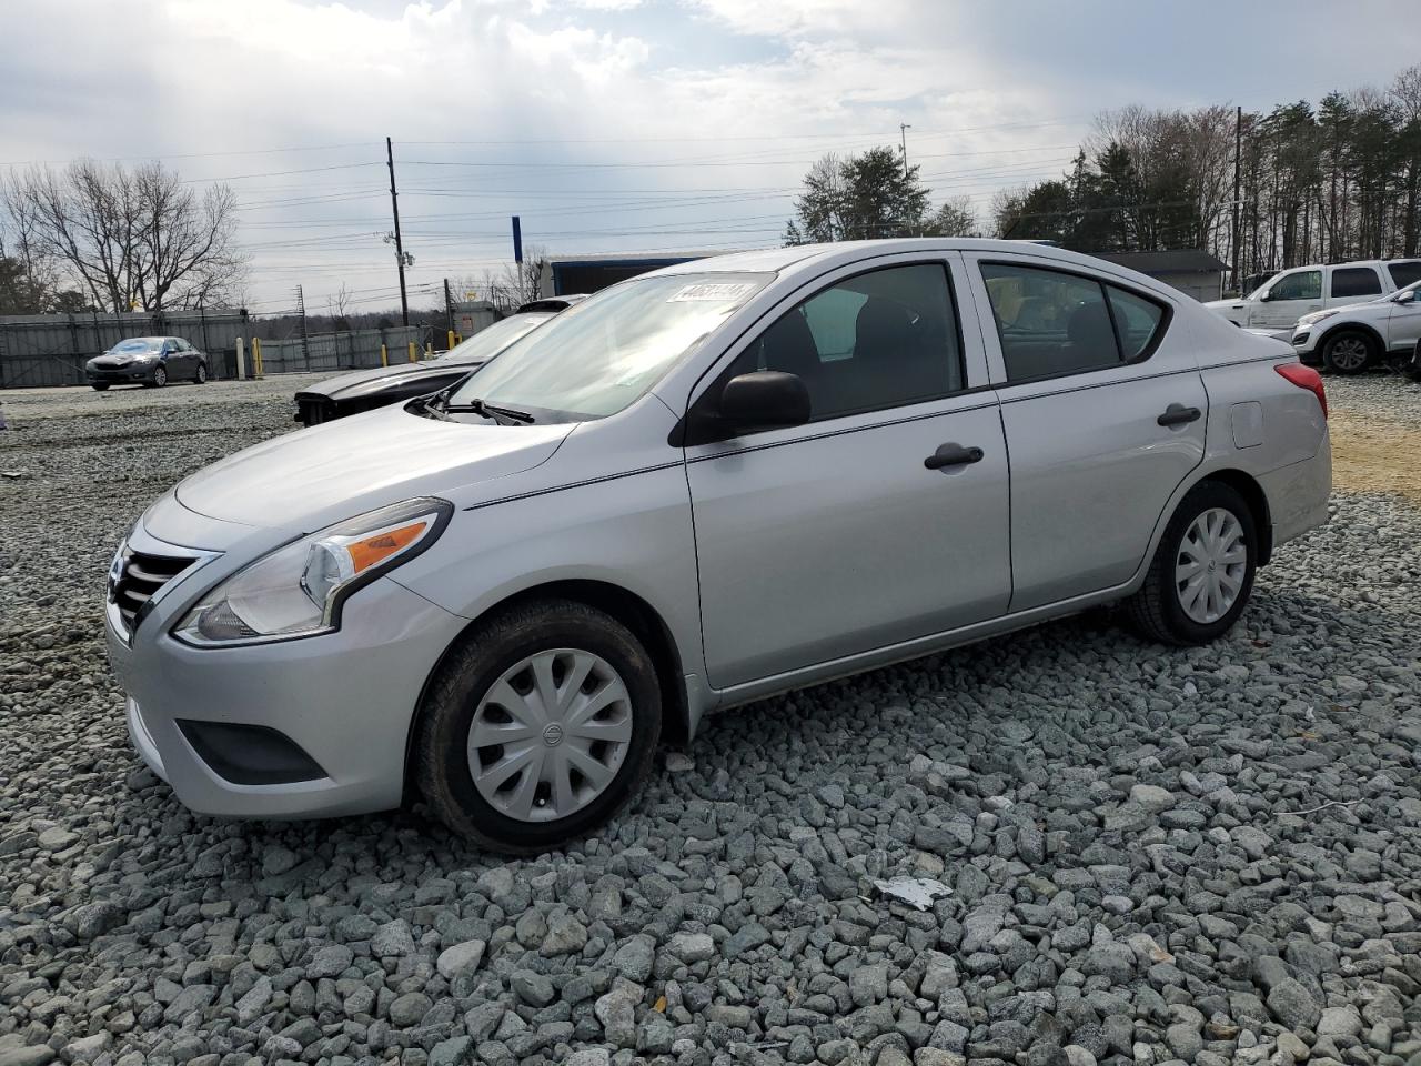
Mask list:
[[702,395],[777,370],[811,404],[807,425],[686,449],[716,689],[1006,610],[1006,448],[995,395],[968,391],[985,364],[952,262],[824,279]]

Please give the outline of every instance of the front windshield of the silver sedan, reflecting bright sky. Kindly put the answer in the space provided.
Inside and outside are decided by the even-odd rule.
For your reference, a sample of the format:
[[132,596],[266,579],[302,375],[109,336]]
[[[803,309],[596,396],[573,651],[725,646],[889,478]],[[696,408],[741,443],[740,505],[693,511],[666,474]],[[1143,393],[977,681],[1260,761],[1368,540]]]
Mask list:
[[695,273],[624,281],[561,311],[469,378],[449,405],[483,399],[540,422],[614,415],[770,277]]

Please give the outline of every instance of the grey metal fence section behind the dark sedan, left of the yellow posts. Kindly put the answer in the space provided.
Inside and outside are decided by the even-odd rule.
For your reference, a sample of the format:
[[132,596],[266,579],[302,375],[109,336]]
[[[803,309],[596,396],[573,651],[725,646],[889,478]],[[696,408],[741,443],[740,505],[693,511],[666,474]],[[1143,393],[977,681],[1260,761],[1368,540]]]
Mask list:
[[237,337],[250,333],[244,311],[0,316],[0,388],[82,385],[84,364],[125,337],[182,337],[222,377],[236,365]]

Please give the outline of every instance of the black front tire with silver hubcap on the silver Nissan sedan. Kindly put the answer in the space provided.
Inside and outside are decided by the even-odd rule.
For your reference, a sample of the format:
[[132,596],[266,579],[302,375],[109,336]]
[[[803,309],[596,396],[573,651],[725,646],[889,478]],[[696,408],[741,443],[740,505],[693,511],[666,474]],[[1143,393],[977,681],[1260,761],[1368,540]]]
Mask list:
[[[550,689],[539,688],[533,675],[539,667],[530,661],[546,667]],[[584,685],[564,695],[567,678],[583,674],[588,661],[595,662]],[[554,702],[571,701],[566,716],[558,711],[544,725],[549,716],[529,711],[530,704],[543,705],[541,691],[550,691]],[[496,692],[506,694],[503,702],[513,712]],[[577,701],[588,692],[605,706],[578,722]],[[520,715],[533,726],[523,726]],[[578,725],[624,739],[588,741]],[[475,746],[500,728],[520,729],[526,743],[513,752],[500,743]],[[446,655],[421,701],[415,783],[455,833],[495,851],[536,854],[584,836],[630,803],[651,770],[659,736],[661,687],[637,637],[585,604],[537,600],[480,623]],[[510,766],[520,759],[523,766]],[[489,775],[482,785],[475,783],[476,762]],[[610,779],[598,785],[583,766]],[[553,785],[558,779],[560,793]]]

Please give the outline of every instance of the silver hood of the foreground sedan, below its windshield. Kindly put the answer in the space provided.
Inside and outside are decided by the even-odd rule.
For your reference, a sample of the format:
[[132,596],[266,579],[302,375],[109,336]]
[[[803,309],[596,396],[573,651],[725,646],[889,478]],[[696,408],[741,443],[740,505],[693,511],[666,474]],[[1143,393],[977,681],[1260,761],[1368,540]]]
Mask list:
[[298,429],[192,475],[175,493],[206,517],[321,529],[412,496],[439,496],[546,462],[571,425],[442,422],[402,405]]

